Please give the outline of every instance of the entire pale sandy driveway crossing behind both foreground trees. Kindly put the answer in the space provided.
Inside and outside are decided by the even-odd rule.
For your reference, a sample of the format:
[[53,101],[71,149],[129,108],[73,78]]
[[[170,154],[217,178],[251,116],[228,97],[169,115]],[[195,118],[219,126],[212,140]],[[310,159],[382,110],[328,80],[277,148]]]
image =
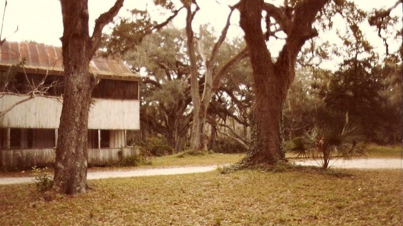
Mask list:
[[[299,160],[294,161],[299,165],[318,165],[314,160]],[[331,167],[334,168],[359,168],[359,169],[402,169],[401,159],[355,159],[351,161],[338,160],[330,161]],[[212,166],[194,166],[194,167],[173,167],[160,169],[136,169],[130,171],[99,171],[88,172],[87,179],[104,179],[116,177],[140,177],[140,176],[155,176],[155,175],[172,175],[186,173],[203,173],[217,169],[217,165]],[[33,183],[34,177],[2,177],[0,185],[18,184],[18,183]]]

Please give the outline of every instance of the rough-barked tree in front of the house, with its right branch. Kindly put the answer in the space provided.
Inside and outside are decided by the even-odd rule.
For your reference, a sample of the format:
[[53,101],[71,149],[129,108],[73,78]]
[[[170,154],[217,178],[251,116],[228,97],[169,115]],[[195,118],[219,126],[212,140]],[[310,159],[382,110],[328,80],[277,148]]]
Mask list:
[[100,42],[102,28],[123,5],[115,5],[95,23],[94,33],[88,31],[87,0],[61,0],[64,65],[63,106],[58,130],[53,189],[59,193],[85,192],[87,187],[87,131],[91,92],[97,79],[90,74],[89,64]]

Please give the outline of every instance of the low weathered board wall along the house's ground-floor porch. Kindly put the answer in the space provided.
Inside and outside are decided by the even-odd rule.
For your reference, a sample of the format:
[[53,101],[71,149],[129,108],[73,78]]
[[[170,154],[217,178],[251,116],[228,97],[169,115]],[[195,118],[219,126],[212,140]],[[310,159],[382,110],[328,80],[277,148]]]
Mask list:
[[[119,151],[123,156],[139,154],[139,149],[134,147],[125,148],[102,148],[88,149],[88,165],[104,166],[119,160]],[[32,166],[50,166],[56,158],[56,149],[0,149],[0,168],[23,169]]]

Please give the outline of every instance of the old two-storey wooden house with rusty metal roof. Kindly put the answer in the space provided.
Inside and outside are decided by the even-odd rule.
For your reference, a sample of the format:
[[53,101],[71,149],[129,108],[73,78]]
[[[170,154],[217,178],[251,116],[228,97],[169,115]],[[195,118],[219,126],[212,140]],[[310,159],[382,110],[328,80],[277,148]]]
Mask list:
[[[0,55],[0,112],[9,110],[0,115],[0,168],[49,165],[55,159],[63,101],[61,48],[5,42]],[[140,129],[140,77],[120,59],[100,56],[92,59],[90,72],[99,83],[89,113],[88,161],[105,165],[137,153],[127,146],[126,132]]]

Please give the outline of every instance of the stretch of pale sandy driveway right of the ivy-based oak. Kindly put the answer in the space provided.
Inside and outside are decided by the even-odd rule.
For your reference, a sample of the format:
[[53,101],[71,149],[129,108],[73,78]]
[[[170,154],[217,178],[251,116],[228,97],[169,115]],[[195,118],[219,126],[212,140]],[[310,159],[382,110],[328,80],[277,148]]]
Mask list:
[[[315,160],[298,160],[295,164],[303,166],[319,166]],[[319,160],[320,162],[320,160]],[[331,168],[358,168],[358,169],[402,169],[401,159],[354,159],[345,160],[330,160]]]

